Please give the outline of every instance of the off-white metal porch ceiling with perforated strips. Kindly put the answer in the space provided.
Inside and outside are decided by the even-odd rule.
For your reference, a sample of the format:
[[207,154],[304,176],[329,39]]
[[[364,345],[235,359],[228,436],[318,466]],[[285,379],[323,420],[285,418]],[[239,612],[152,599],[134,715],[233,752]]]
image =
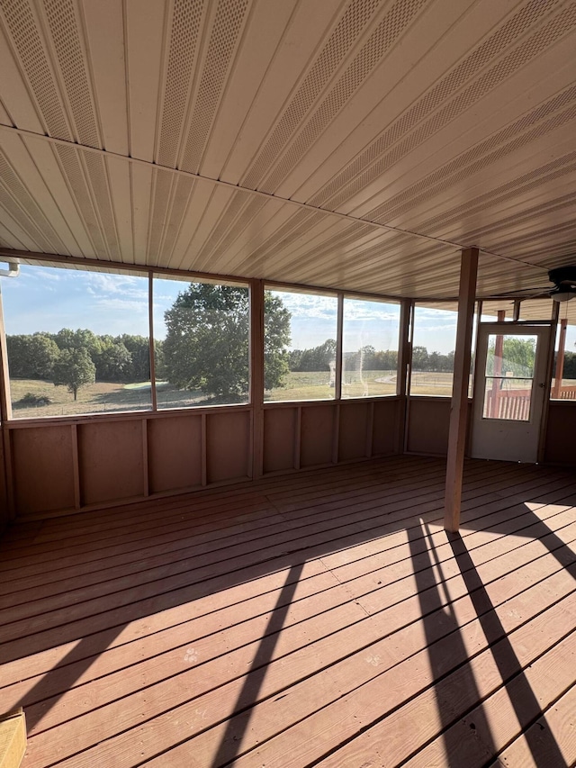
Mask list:
[[576,3],[0,0],[0,247],[442,298],[576,262]]

